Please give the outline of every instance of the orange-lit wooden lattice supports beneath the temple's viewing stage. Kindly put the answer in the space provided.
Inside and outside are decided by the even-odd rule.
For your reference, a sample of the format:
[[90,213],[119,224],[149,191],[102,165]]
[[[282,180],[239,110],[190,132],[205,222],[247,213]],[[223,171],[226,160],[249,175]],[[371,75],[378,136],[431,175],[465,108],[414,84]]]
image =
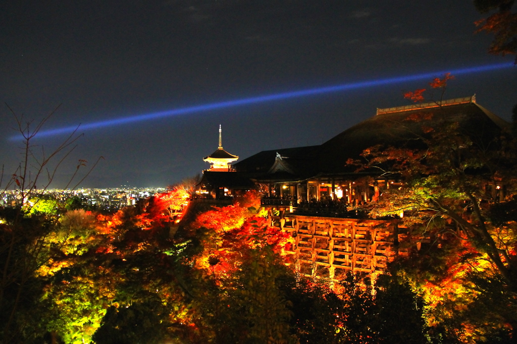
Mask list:
[[278,221],[295,238],[302,275],[336,279],[346,272],[375,277],[399,250],[399,222],[291,215]]

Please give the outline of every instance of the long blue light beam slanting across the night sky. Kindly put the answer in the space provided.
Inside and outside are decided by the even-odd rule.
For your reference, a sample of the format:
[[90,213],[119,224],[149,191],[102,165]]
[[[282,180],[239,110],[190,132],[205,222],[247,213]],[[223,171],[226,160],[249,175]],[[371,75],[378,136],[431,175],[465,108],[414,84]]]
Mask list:
[[[451,70],[448,72],[450,72],[452,75],[461,75],[461,74],[479,73],[479,72],[486,72],[486,71],[492,71],[492,70],[503,69],[503,68],[510,68],[513,66],[514,66],[513,62],[506,62],[506,63],[495,64],[495,65],[485,65],[485,66],[456,69],[456,70]],[[433,77],[436,77],[437,75],[442,75],[444,73],[445,73],[444,71],[441,71],[441,72],[405,75],[405,76],[398,76],[398,77],[389,77],[387,79],[381,79],[381,80],[361,81],[361,82],[334,85],[334,86],[302,89],[302,90],[291,91],[291,92],[282,92],[282,93],[276,93],[276,94],[272,94],[272,95],[256,96],[256,97],[250,97],[250,98],[244,98],[244,99],[227,100],[227,101],[222,101],[222,102],[217,102],[217,103],[180,107],[180,108],[176,108],[176,109],[168,110],[168,111],[161,111],[161,112],[155,112],[155,113],[150,113],[150,114],[134,115],[134,116],[128,116],[128,117],[120,117],[120,118],[102,120],[102,121],[97,121],[97,122],[85,123],[85,124],[81,124],[79,129],[81,131],[84,131],[84,130],[89,130],[89,129],[102,128],[102,127],[118,126],[120,124],[147,121],[147,120],[152,120],[152,119],[156,119],[156,118],[207,112],[207,111],[217,110],[220,108],[258,104],[258,103],[265,103],[265,102],[283,100],[283,99],[315,96],[315,95],[321,95],[322,93],[342,92],[342,91],[348,91],[348,90],[354,90],[354,89],[360,89],[360,88],[398,84],[398,83],[404,83],[404,82],[416,81],[416,80],[422,80],[422,79],[431,79]],[[77,126],[68,126],[68,127],[61,127],[61,128],[56,128],[56,129],[43,130],[38,133],[38,137],[70,133],[75,129],[77,129]],[[21,135],[15,135],[15,136],[11,136],[9,139],[16,140],[16,139],[21,139],[21,138],[22,138]]]

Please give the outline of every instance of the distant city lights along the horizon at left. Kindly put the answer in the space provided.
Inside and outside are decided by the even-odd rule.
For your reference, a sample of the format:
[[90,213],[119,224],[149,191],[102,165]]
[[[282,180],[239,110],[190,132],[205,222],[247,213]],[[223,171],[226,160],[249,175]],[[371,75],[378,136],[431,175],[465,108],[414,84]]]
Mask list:
[[[110,189],[78,189],[78,190],[42,190],[33,193],[32,197],[56,199],[67,202],[73,199],[77,206],[84,209],[117,211],[126,206],[136,204],[140,199],[165,191],[165,187],[138,188],[116,187]],[[20,198],[18,190],[6,190],[0,199],[0,206],[17,204]]]

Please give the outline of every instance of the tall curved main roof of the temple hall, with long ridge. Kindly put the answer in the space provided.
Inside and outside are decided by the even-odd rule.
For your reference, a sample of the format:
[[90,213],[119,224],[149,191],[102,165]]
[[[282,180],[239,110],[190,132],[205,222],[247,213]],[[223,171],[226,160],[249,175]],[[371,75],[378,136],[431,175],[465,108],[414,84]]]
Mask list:
[[358,159],[364,149],[375,145],[414,147],[418,145],[415,139],[425,135],[422,128],[436,127],[441,120],[458,122],[463,133],[485,145],[509,125],[476,103],[379,113],[325,142],[317,162],[320,171],[346,172],[348,158]]

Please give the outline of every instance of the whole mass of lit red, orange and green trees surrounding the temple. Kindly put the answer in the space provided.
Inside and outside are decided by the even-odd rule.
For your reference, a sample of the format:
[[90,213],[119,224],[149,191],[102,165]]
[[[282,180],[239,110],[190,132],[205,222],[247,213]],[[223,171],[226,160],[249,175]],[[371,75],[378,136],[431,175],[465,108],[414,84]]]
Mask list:
[[517,142],[445,116],[451,79],[406,93],[438,99],[403,119],[418,128],[405,144],[347,162],[403,181],[361,205],[409,229],[375,282],[299,274],[295,238],[271,225],[256,191],[208,209],[189,182],[114,213],[31,196],[0,208],[1,340],[512,342]]

